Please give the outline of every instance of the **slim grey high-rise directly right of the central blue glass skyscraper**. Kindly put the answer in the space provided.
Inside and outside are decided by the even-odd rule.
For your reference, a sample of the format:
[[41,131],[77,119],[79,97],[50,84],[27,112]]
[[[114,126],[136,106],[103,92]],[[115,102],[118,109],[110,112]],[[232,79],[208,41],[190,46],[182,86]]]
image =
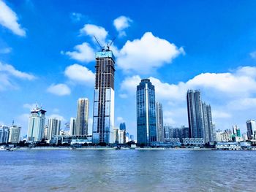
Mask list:
[[165,139],[162,104],[157,101],[156,104],[156,116],[157,116],[157,142],[163,142]]

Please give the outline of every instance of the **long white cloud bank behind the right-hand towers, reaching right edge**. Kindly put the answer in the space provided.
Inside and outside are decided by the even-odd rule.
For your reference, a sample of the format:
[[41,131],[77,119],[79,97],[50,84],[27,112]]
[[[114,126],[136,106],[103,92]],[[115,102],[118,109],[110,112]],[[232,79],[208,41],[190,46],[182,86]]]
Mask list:
[[[233,73],[202,73],[187,82],[170,84],[161,82],[157,78],[149,77],[155,85],[158,99],[184,101],[188,89],[200,89],[209,93],[213,98],[244,98],[256,93],[256,67],[239,67]],[[135,94],[136,86],[140,82],[140,76],[127,77],[121,82],[122,93]]]

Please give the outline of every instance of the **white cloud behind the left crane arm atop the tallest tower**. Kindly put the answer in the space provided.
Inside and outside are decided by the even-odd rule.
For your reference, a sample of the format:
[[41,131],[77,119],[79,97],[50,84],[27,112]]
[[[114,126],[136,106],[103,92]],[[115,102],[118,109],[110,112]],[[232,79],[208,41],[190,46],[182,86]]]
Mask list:
[[105,28],[101,26],[95,26],[92,24],[86,24],[83,26],[83,28],[80,29],[80,34],[86,34],[89,35],[92,39],[94,39],[94,36],[99,39],[100,43],[105,43],[105,39],[108,36],[108,31],[105,30]]

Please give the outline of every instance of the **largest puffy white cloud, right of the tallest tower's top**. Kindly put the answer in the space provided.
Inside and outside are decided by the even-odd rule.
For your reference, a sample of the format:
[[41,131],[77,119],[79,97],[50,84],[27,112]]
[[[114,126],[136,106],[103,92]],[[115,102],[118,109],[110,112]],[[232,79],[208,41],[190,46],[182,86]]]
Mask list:
[[184,54],[183,47],[178,48],[167,40],[154,37],[151,32],[147,32],[141,39],[127,41],[121,48],[116,63],[125,72],[147,74],[152,69],[170,64],[181,54]]

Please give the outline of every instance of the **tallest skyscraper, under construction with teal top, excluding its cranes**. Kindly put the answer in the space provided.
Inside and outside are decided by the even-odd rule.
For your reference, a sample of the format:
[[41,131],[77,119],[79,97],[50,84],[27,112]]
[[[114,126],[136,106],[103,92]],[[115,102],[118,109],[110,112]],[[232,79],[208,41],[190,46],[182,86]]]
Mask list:
[[96,53],[92,142],[113,143],[115,56],[103,49]]

